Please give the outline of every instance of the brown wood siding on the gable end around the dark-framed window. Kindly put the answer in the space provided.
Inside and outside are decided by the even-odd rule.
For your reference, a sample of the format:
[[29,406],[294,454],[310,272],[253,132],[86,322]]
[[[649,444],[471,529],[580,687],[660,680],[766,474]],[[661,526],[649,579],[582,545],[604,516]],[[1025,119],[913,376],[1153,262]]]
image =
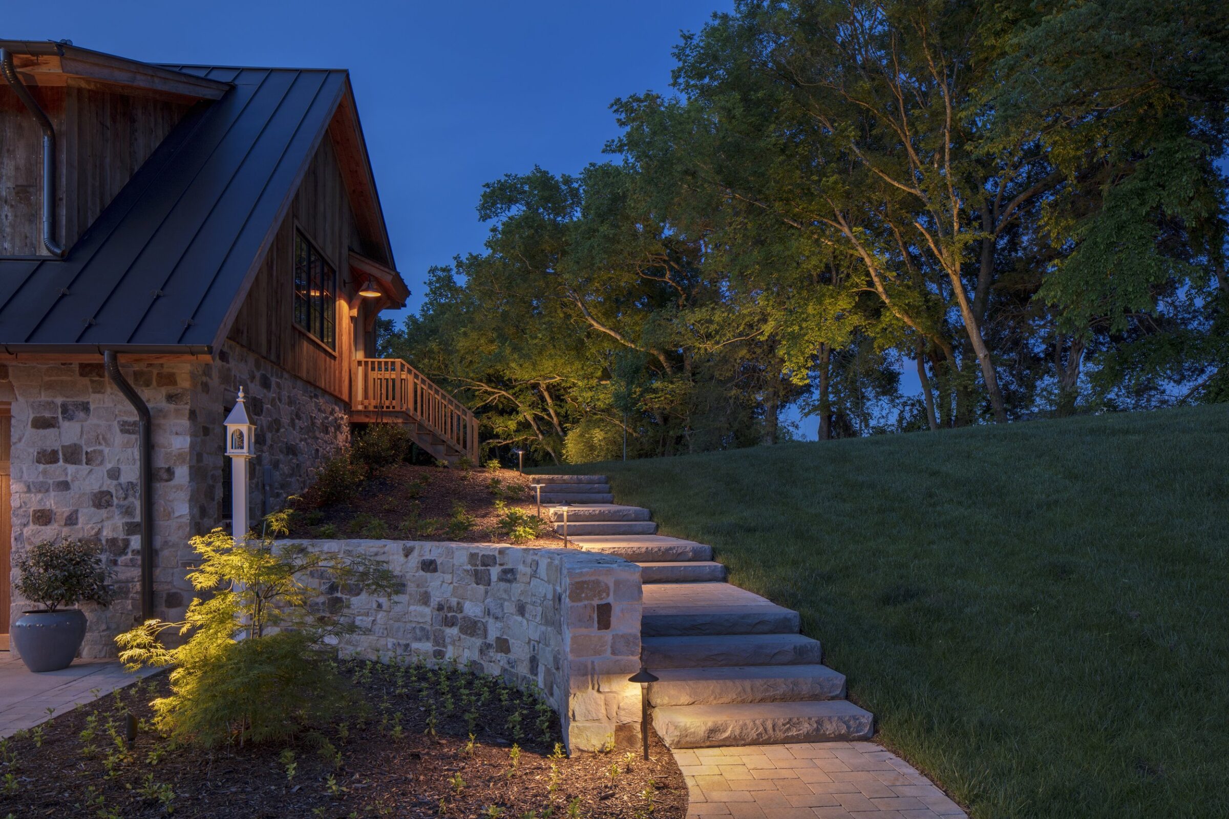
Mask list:
[[[336,351],[327,350],[294,323],[296,228],[337,270]],[[349,249],[360,250],[364,244],[337,153],[326,138],[312,157],[290,212],[278,227],[229,338],[349,404],[355,349],[354,322],[349,316],[355,282],[350,275]]]

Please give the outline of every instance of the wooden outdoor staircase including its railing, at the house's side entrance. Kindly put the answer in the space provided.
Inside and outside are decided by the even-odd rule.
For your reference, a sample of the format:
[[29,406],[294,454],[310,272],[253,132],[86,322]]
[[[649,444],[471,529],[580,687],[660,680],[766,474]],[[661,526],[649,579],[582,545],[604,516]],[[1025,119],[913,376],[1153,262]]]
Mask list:
[[478,420],[469,409],[401,359],[356,359],[351,424],[403,424],[440,460],[478,463]]

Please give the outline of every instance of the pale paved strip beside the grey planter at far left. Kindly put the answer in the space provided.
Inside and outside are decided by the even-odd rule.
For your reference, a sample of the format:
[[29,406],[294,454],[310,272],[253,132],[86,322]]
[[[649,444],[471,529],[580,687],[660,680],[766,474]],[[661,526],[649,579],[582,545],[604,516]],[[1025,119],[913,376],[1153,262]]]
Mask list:
[[68,668],[36,674],[11,652],[0,651],[0,737],[33,728],[157,672],[143,668],[130,674],[114,659],[74,659]]

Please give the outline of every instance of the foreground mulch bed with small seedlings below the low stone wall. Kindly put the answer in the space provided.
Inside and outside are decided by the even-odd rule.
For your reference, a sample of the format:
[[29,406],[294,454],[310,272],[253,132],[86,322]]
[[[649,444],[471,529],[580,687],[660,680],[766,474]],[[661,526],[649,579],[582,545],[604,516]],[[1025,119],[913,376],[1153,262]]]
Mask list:
[[[554,713],[495,678],[452,670],[441,683],[425,669],[345,668],[367,705],[364,717],[322,726],[315,738],[214,751],[173,747],[150,728],[147,702],[167,693],[165,674],[104,695],[0,742],[0,817],[686,814],[682,774],[656,736],[649,761],[638,749],[567,758],[556,744]],[[469,704],[463,712],[460,702]],[[130,748],[123,744],[128,712],[140,720]]]

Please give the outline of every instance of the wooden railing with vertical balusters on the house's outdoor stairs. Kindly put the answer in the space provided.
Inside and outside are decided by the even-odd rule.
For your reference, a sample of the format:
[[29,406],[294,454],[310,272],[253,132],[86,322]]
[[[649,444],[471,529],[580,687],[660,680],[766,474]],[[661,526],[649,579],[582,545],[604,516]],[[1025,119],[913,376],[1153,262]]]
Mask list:
[[404,413],[458,454],[478,463],[478,419],[401,359],[356,359],[353,383],[351,409]]

